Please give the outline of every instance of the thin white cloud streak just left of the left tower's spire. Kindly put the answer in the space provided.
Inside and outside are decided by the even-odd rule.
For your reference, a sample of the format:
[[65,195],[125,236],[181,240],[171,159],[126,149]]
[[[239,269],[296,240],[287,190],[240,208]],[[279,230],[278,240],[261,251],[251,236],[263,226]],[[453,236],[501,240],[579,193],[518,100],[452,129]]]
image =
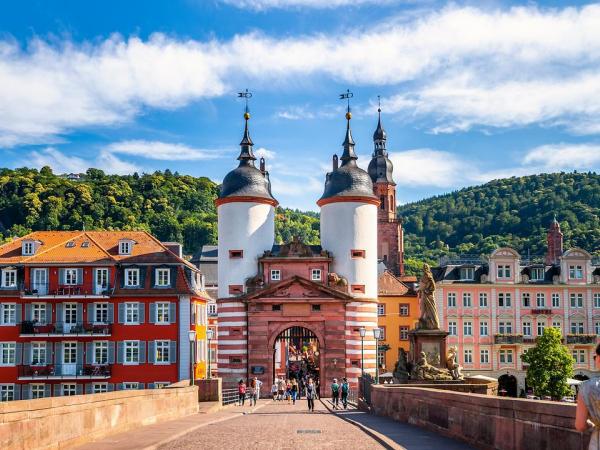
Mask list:
[[106,147],[110,153],[138,156],[163,161],[198,161],[221,158],[224,152],[188,147],[160,141],[132,140],[115,142]]

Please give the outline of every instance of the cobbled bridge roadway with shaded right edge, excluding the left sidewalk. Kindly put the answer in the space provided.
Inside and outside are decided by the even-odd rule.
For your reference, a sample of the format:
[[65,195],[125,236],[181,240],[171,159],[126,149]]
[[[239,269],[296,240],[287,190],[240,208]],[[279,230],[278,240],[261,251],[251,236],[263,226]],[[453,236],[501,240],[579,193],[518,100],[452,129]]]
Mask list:
[[[315,411],[310,413],[306,410],[305,400],[296,405],[269,402],[252,413],[199,428],[164,444],[160,449],[470,448],[411,425],[357,410],[331,412],[327,403],[315,403]],[[235,408],[244,410],[242,407]]]

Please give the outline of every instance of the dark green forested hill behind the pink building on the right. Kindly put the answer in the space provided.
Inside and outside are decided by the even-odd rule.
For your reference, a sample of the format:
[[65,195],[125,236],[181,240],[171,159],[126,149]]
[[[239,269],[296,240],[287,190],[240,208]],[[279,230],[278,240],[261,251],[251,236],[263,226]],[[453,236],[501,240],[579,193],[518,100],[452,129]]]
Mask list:
[[448,253],[489,254],[498,246],[543,254],[554,214],[565,247],[600,251],[600,175],[553,173],[512,177],[399,208],[406,254],[437,259]]

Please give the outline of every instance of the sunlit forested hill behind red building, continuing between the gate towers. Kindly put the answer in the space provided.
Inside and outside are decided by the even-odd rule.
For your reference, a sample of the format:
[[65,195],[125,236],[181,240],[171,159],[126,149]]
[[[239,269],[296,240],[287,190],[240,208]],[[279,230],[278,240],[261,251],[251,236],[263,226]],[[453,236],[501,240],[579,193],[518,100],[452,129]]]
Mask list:
[[[193,254],[217,242],[214,199],[208,178],[171,173],[106,175],[89,169],[79,180],[49,167],[0,169],[0,242],[34,230],[147,230]],[[318,242],[315,213],[278,208],[277,240],[299,235]]]

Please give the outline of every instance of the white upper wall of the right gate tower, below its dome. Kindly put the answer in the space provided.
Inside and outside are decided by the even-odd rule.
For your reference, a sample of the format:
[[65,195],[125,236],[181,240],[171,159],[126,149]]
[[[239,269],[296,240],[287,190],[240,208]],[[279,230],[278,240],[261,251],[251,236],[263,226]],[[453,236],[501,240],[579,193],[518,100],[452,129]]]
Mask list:
[[[364,284],[358,298],[377,298],[377,206],[361,202],[334,202],[321,207],[321,246],[333,254],[333,271],[348,286]],[[352,258],[364,250],[364,258]]]

